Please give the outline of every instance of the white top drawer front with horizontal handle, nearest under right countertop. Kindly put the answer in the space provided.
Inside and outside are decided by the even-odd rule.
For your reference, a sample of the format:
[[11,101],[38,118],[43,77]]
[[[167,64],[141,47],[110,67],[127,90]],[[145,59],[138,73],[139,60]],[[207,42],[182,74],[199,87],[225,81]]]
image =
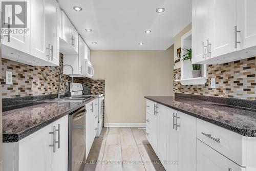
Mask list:
[[230,160],[245,166],[246,140],[244,136],[197,119],[197,139],[214,148]]

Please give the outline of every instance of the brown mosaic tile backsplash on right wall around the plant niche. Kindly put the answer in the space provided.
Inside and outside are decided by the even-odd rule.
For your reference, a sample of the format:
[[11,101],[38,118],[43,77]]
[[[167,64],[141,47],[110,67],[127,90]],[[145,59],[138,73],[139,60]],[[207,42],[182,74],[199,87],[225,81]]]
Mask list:
[[[180,79],[180,68],[174,70],[174,79],[176,73]],[[222,65],[208,65],[205,85],[182,86],[180,82],[174,82],[174,92],[256,100],[255,75],[255,57]],[[216,78],[216,89],[210,88],[211,78]]]

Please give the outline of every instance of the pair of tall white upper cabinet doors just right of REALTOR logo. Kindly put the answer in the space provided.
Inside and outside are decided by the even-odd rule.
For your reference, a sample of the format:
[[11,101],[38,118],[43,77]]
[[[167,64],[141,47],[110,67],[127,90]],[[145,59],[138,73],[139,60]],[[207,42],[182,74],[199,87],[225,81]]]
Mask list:
[[58,4],[55,0],[31,1],[30,54],[59,65]]

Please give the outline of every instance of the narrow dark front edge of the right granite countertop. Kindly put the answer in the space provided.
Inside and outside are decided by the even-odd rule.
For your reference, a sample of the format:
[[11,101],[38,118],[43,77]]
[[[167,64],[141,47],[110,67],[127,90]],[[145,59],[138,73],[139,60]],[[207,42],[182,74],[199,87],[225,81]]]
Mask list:
[[174,106],[171,106],[171,105],[162,103],[162,102],[157,101],[157,100],[155,100],[155,99],[152,99],[152,98],[150,98],[150,97],[148,97],[148,96],[144,96],[144,98],[145,98],[145,99],[148,99],[148,100],[151,100],[151,101],[154,101],[154,102],[156,102],[156,103],[162,104],[162,105],[164,105],[164,106],[166,106],[166,107],[168,107],[168,108],[172,108],[172,109],[174,109],[174,110],[183,112],[183,113],[185,113],[185,114],[187,114],[187,115],[194,116],[194,117],[196,117],[196,118],[202,119],[202,120],[204,120],[204,121],[206,121],[206,122],[215,124],[215,125],[217,125],[217,126],[221,126],[221,127],[223,127],[224,129],[227,129],[227,130],[232,131],[232,132],[234,132],[234,133],[240,134],[240,135],[242,135],[242,136],[246,136],[246,137],[255,137],[254,133],[252,133],[252,132],[256,132],[256,130],[242,129],[242,128],[240,128],[240,127],[236,127],[236,126],[228,125],[228,124],[226,124],[226,123],[218,122],[218,121],[216,121],[216,120],[212,120],[212,119],[210,119],[210,118],[203,117],[203,116],[197,115],[197,114],[195,114],[195,113],[191,113],[191,112],[182,110],[182,109],[180,109],[180,108],[176,108],[176,107],[174,107]]

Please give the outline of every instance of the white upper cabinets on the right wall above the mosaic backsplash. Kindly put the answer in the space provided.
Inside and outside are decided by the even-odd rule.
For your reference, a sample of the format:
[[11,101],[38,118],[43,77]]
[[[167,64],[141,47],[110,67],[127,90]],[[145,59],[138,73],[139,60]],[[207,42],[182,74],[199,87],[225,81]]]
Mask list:
[[193,63],[220,64],[256,55],[253,0],[193,0]]

